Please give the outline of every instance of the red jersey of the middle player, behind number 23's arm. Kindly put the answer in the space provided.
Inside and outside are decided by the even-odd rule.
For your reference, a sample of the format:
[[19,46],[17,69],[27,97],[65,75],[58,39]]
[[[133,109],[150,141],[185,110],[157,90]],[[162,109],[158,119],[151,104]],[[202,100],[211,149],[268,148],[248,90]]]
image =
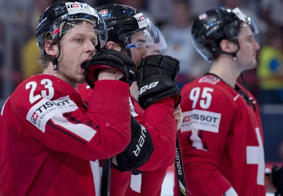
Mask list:
[[[87,101],[91,89],[79,85],[78,91]],[[154,150],[151,157],[140,167],[140,175],[131,172],[119,172],[112,167],[111,196],[159,196],[161,185],[168,166],[172,165],[176,155],[176,121],[174,101],[164,98],[143,110],[132,97],[129,98],[131,114],[150,133]]]

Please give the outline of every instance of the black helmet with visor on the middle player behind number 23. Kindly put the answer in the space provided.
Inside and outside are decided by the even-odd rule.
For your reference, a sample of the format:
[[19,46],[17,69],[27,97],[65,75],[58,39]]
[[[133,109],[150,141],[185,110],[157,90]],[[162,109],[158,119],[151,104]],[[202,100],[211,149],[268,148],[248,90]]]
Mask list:
[[[94,8],[104,19],[108,41],[120,43],[126,50],[159,43],[156,26],[148,25],[146,18],[133,7],[121,4],[106,4]],[[133,35],[143,33],[146,42],[134,42]]]

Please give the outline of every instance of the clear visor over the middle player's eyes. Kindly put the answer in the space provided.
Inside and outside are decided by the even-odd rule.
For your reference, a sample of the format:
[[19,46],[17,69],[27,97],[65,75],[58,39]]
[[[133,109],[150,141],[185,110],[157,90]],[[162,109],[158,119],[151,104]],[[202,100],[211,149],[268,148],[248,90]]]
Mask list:
[[159,43],[159,34],[156,26],[150,23],[148,26],[132,31],[122,36],[125,49],[141,48]]

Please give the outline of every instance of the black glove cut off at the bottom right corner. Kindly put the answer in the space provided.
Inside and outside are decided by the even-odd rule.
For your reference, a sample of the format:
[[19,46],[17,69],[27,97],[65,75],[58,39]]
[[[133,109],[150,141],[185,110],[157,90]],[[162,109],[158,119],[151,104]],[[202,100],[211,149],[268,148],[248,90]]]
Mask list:
[[281,167],[273,165],[271,177],[273,186],[277,188],[275,196],[283,196],[283,165]]

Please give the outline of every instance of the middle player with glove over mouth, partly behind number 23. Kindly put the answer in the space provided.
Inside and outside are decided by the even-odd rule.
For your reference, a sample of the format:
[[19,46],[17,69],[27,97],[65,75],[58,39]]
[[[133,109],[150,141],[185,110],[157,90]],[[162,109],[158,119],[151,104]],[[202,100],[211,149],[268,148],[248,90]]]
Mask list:
[[[106,49],[126,53],[139,67],[136,76],[139,95],[138,100],[130,97],[131,113],[148,130],[154,144],[151,157],[133,172],[134,175],[112,168],[110,194],[158,196],[167,168],[175,158],[177,124],[182,122],[177,107],[179,89],[175,84],[179,62],[171,56],[148,56],[146,47],[158,43],[159,36],[154,24],[149,25],[136,9],[119,4],[95,9],[108,29]],[[83,97],[89,94],[85,86],[81,87]],[[137,89],[132,93],[137,94]]]

